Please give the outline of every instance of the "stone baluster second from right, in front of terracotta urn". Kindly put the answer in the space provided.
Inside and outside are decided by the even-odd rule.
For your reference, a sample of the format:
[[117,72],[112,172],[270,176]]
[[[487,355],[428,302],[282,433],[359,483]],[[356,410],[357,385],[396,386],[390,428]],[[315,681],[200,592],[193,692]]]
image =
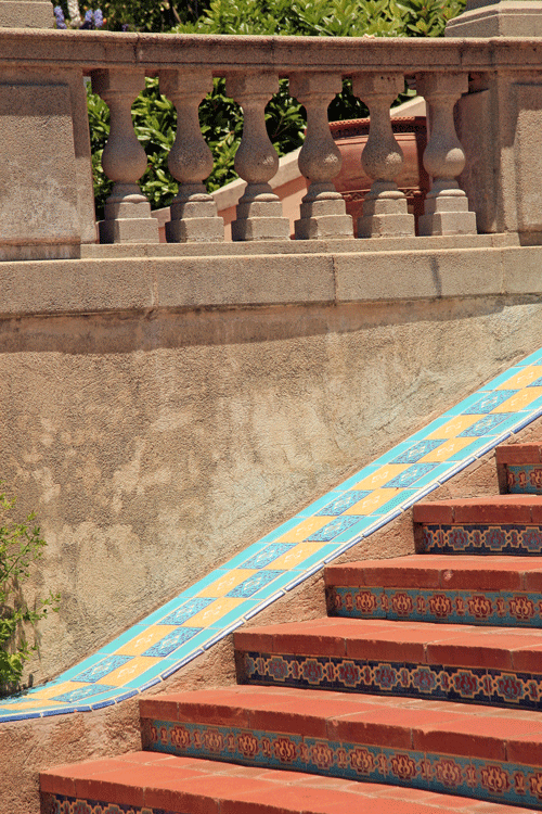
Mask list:
[[395,178],[403,165],[403,153],[391,129],[389,109],[404,89],[402,74],[360,74],[353,78],[353,92],[369,107],[369,139],[361,154],[363,169],[373,179],[358,218],[358,237],[384,238],[414,234],[414,216],[409,215],[406,198]]

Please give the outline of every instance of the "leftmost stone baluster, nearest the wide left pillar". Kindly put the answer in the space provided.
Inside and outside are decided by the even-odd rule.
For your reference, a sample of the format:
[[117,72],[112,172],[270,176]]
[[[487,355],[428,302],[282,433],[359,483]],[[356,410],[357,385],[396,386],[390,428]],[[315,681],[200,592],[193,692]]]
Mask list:
[[92,90],[109,107],[109,138],[102,167],[114,187],[99,224],[101,243],[158,243],[158,221],[141,192],[139,179],[146,169],[145,151],[133,130],[131,106],[145,87],[143,71],[93,71]]

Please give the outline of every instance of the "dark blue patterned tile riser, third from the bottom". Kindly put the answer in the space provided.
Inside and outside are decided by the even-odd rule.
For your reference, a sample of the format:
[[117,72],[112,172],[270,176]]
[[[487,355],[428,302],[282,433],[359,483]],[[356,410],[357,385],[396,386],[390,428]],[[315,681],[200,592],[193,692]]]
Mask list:
[[246,684],[542,708],[542,675],[532,673],[327,656],[245,652],[238,658]]

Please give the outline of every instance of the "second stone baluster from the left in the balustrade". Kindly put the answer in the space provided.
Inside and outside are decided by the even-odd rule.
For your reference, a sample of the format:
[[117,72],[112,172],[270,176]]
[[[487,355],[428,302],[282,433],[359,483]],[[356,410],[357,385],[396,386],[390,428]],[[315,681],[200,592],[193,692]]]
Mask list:
[[212,90],[210,71],[160,71],[160,90],[177,109],[177,135],[168,167],[179,192],[166,224],[168,243],[211,242],[224,239],[224,222],[203,183],[212,170],[212,153],[199,128],[198,107]]

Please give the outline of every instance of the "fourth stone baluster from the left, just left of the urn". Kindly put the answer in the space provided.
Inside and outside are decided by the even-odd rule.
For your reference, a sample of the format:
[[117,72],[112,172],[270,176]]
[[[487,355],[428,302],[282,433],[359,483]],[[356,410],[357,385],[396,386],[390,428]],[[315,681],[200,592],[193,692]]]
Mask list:
[[340,171],[343,157],[330,132],[327,107],[343,90],[336,74],[295,75],[289,91],[307,111],[307,136],[299,153],[299,170],[309,189],[295,224],[296,240],[353,238],[352,218],[346,214],[343,195],[332,178]]

